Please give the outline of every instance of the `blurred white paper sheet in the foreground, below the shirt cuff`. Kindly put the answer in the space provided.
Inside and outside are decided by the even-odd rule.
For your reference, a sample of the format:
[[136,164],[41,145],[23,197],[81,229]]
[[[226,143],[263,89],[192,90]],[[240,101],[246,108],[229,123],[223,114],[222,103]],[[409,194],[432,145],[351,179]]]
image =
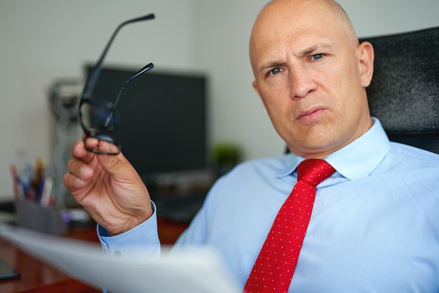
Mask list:
[[104,257],[97,243],[49,236],[0,224],[0,236],[34,257],[98,289],[130,292],[241,292],[209,250],[182,250],[162,257]]

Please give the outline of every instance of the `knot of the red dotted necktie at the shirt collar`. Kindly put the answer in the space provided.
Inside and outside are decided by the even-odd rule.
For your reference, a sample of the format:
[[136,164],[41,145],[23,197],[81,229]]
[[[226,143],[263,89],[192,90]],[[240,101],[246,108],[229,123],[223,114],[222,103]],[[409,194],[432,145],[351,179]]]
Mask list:
[[297,181],[305,180],[313,186],[317,186],[334,172],[335,169],[326,161],[311,158],[297,166]]

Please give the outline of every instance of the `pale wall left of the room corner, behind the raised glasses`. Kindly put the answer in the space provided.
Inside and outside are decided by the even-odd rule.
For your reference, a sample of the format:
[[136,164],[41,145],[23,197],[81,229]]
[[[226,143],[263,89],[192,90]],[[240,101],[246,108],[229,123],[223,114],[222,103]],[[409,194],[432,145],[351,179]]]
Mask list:
[[191,0],[0,0],[0,197],[11,197],[9,165],[27,154],[51,160],[52,113],[46,91],[79,77],[95,62],[116,26],[154,12],[156,20],[123,27],[105,64],[191,69]]

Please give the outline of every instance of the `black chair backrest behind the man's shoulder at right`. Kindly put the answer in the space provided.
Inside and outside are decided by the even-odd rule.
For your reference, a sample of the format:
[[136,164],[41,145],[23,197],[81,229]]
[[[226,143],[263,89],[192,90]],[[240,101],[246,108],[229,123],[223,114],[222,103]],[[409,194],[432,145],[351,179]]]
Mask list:
[[371,115],[392,141],[439,154],[439,27],[361,41],[375,51]]

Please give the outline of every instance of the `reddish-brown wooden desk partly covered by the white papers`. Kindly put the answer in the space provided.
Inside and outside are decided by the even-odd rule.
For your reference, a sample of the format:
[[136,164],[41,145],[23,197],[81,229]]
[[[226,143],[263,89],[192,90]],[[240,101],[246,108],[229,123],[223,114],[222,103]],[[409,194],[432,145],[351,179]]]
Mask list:
[[[163,244],[173,244],[186,229],[187,224],[175,224],[163,219],[158,219],[158,235]],[[98,242],[95,226],[69,229],[67,237]],[[1,280],[0,292],[26,292],[26,293],[97,293],[95,289],[82,282],[74,280],[39,259],[35,259],[23,252],[15,245],[0,238],[0,258],[11,264],[21,277],[14,280]]]

